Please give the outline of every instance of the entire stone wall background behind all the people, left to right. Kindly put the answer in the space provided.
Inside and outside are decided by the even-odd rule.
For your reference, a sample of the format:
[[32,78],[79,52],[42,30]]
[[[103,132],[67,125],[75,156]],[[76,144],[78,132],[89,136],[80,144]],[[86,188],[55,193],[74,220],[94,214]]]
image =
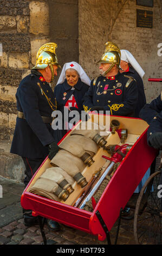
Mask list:
[[[162,43],[162,2],[154,0],[153,8],[135,3],[136,0],[0,0],[0,139],[12,139],[18,84],[35,65],[40,46],[48,41],[58,44],[56,53],[61,66],[74,60],[93,78],[99,74],[96,62],[105,42],[113,40],[132,52],[145,70],[147,101],[160,93],[160,83],[147,80],[161,76],[162,57],[157,51]],[[136,9],[153,11],[152,29],[136,27]]]

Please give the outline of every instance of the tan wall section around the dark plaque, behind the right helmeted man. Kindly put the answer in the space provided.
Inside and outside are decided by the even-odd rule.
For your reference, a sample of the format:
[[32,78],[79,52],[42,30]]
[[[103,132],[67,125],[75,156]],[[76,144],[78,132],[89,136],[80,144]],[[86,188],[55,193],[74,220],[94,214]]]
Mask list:
[[[152,29],[136,27],[136,9],[153,11]],[[148,82],[148,78],[162,77],[162,56],[157,54],[158,44],[162,43],[161,10],[161,0],[154,0],[153,8],[136,5],[136,0],[79,0],[79,62],[89,77],[99,75],[96,62],[105,42],[112,40],[130,51],[145,70],[147,102],[157,97],[160,83]]]

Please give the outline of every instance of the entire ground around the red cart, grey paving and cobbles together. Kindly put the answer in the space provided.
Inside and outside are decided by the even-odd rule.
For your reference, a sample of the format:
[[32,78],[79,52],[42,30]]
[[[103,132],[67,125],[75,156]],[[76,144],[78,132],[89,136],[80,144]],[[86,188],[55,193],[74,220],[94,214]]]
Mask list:
[[[0,245],[40,245],[43,238],[40,226],[25,227],[20,204],[23,184],[0,177],[3,187],[3,198],[0,198]],[[135,205],[138,194],[133,194],[129,202]],[[134,220],[121,219],[117,245],[135,245]],[[118,220],[110,231],[112,244],[115,243]],[[107,240],[99,241],[98,237],[61,224],[60,231],[50,231],[44,225],[47,244],[55,245],[107,245]],[[49,232],[49,233],[47,233]]]

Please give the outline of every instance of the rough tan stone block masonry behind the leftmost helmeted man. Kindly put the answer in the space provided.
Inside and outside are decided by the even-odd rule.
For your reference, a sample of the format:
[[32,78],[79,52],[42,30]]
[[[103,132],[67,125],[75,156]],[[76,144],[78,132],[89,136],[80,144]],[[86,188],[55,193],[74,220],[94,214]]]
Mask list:
[[46,1],[0,0],[0,6],[0,139],[11,140],[17,87],[35,65],[40,46],[49,41],[49,15]]

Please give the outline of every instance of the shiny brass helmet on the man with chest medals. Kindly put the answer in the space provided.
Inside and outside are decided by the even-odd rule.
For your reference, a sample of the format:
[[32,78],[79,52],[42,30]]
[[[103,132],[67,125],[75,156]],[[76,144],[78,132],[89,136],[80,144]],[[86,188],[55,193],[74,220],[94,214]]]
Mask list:
[[102,75],[105,76],[109,71],[112,70],[114,65],[121,69],[120,58],[121,52],[118,45],[111,41],[106,42],[105,52],[102,54],[102,57],[98,63],[110,63],[111,66],[109,66],[108,70],[106,70]]

